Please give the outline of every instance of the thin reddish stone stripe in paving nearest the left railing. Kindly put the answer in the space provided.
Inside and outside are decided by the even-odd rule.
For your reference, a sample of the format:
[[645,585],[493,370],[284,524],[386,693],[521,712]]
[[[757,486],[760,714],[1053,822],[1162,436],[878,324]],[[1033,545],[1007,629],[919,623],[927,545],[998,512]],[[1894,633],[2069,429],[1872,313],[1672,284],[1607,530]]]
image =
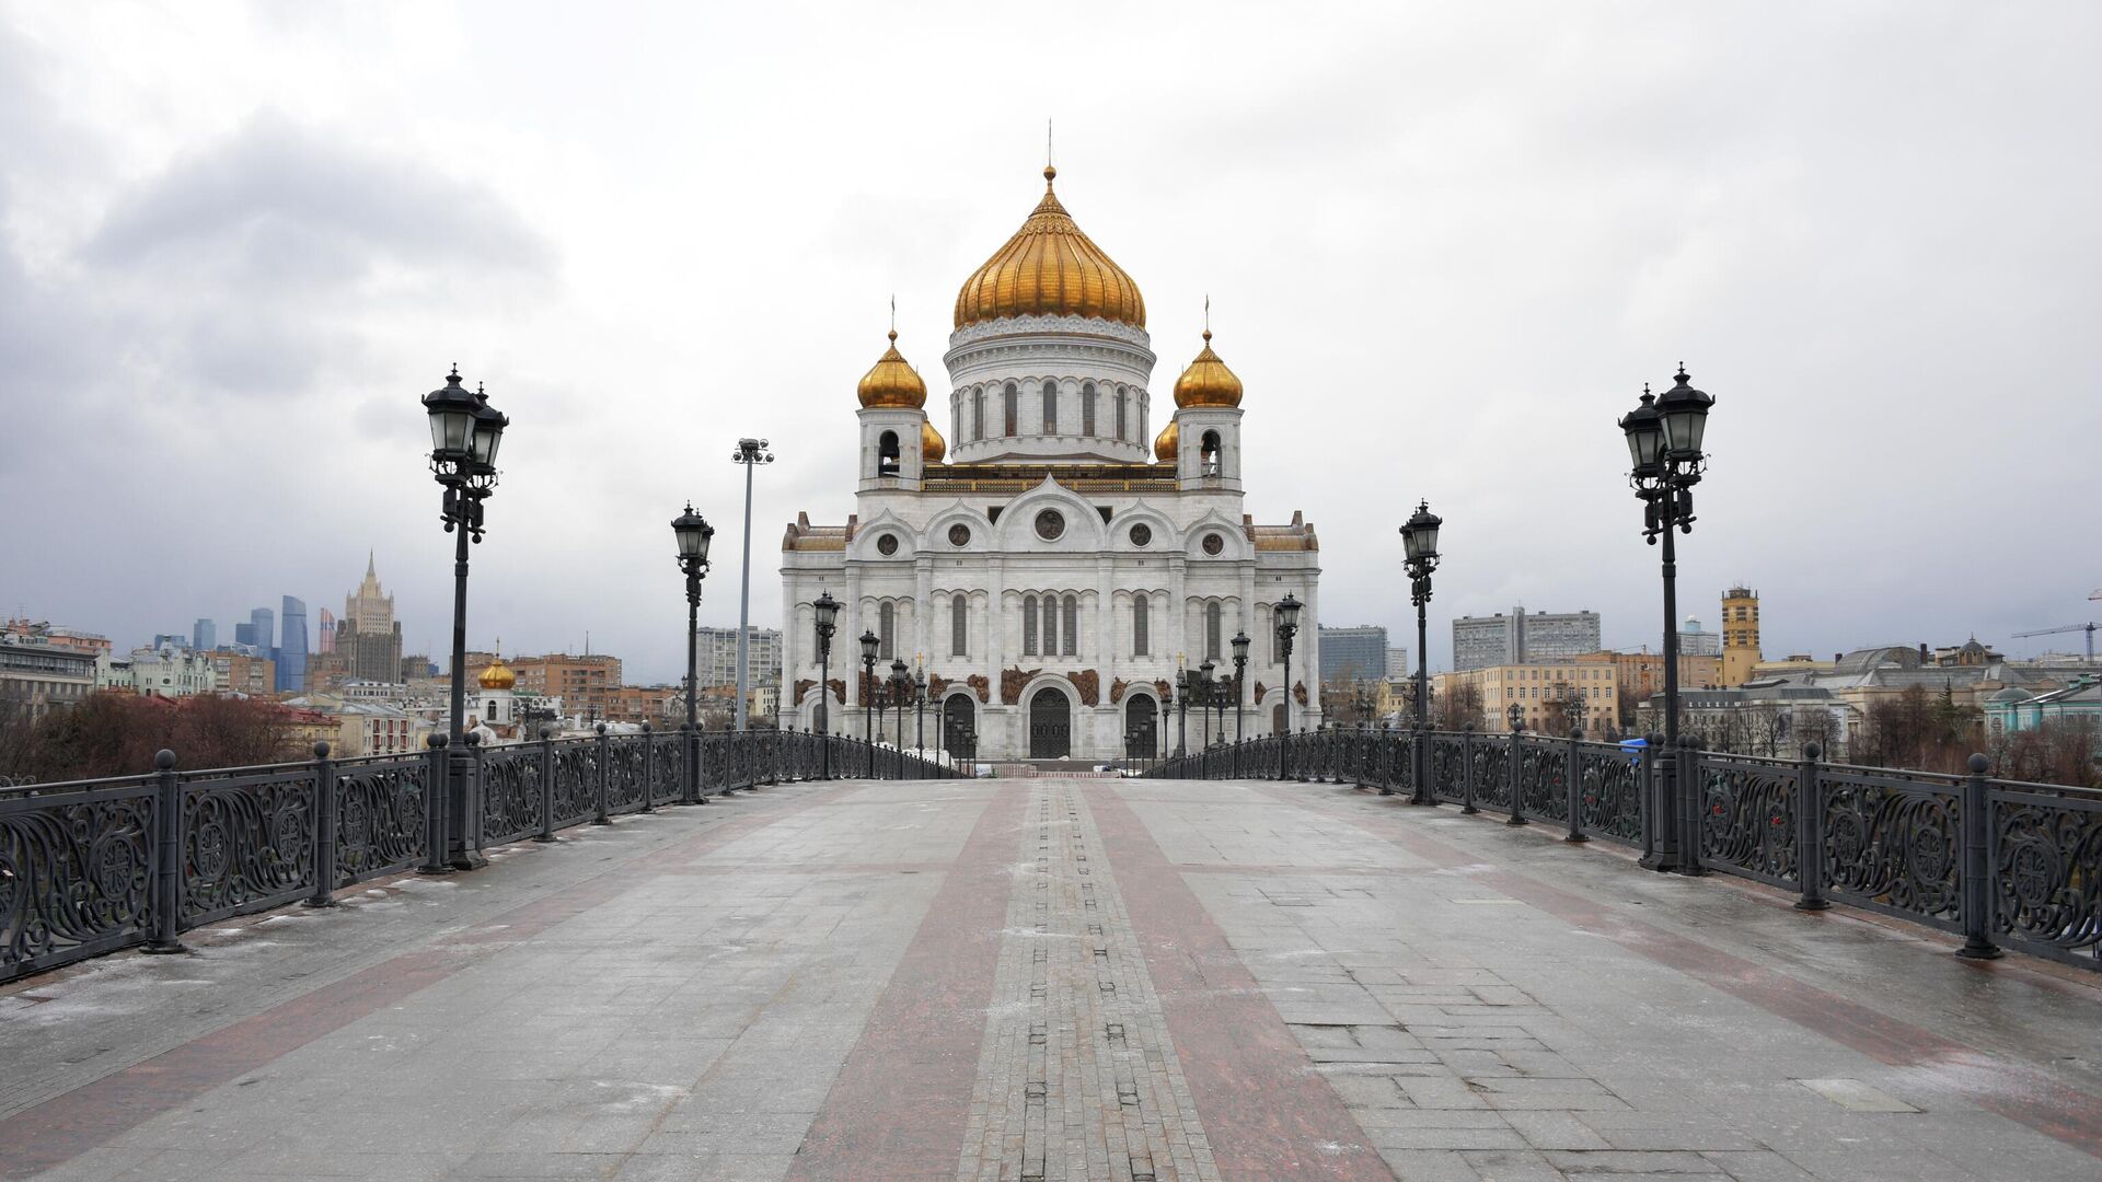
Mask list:
[[0,1121],[0,1178],[29,1178],[63,1165],[212,1087],[254,1073],[277,1056],[446,980],[479,959],[456,951],[460,944],[513,942],[544,932],[620,896],[635,885],[637,875],[647,875],[664,862],[706,854],[725,841],[799,812],[822,808],[828,799],[858,789],[860,784],[834,784],[799,793],[782,808],[727,818],[694,837],[492,915],[450,938],[444,949],[427,946],[385,959],[63,1096],[53,1096],[34,1108],[23,1108]]

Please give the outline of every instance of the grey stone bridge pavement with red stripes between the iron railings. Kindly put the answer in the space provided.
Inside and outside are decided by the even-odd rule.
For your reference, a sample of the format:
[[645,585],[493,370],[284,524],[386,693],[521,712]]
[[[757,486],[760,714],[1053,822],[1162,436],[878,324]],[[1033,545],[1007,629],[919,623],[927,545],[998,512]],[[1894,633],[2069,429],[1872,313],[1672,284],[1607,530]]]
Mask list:
[[6,1178],[2102,1176],[2102,989],[1349,789],[765,789],[0,993]]

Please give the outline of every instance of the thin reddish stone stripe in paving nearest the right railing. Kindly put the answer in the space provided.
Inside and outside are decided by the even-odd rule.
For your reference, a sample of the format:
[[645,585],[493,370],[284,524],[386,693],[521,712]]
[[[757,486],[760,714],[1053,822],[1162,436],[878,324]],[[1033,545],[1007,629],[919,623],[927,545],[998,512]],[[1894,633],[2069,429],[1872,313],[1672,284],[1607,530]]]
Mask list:
[[[1263,784],[1261,791],[1274,799],[1307,803],[1305,795],[1291,795],[1284,789]],[[1482,858],[1429,837],[1408,827],[1400,816],[1366,818],[1358,812],[1331,810],[1373,833],[1402,845],[1410,854],[1444,867],[1478,867]],[[1747,961],[1667,932],[1654,923],[1633,919],[1610,906],[1602,906],[1581,894],[1543,883],[1530,875],[1520,875],[1497,867],[1474,873],[1469,881],[1524,900],[1541,911],[1583,925],[1623,949],[1673,967],[1703,984],[1715,986],[1740,1001],[1749,1001],[1776,1018],[1787,1018],[1806,1031],[1825,1035],[1837,1043],[1885,1062],[1890,1066],[1946,1066],[1961,1064],[1963,1071],[1938,1073],[1925,1083],[1949,1089],[1955,1096],[1988,1113],[1999,1113],[2010,1121],[2028,1125],[2041,1134],[2070,1144],[2094,1157],[2102,1157],[2102,1100],[2049,1079],[2047,1075],[2007,1064],[1988,1052],[1957,1043],[1923,1026],[1902,1022],[1871,1010],[1837,993],[1797,980],[1780,970]]]

